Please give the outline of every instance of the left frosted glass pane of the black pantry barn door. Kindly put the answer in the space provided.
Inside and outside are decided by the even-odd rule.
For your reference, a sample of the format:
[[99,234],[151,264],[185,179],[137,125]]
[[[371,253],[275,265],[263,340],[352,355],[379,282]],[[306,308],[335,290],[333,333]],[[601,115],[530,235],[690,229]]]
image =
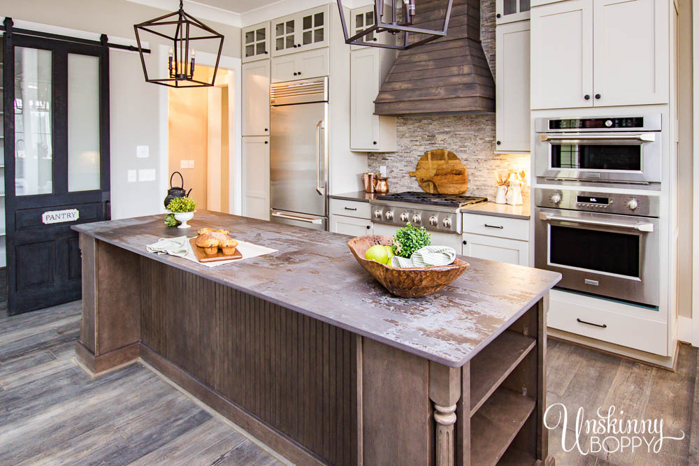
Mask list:
[[15,47],[15,194],[53,192],[52,53]]

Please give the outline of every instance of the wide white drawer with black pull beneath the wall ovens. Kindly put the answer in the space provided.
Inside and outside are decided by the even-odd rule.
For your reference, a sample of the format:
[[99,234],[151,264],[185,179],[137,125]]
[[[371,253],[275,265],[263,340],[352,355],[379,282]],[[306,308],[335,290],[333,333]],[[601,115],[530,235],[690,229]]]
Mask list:
[[552,290],[548,326],[668,356],[668,324],[658,311]]

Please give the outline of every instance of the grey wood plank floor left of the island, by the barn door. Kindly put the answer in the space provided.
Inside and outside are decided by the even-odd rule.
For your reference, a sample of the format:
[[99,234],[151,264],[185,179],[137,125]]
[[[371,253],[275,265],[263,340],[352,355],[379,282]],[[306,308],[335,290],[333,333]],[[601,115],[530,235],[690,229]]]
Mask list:
[[0,465],[280,465],[146,367],[72,361],[80,302],[0,314]]

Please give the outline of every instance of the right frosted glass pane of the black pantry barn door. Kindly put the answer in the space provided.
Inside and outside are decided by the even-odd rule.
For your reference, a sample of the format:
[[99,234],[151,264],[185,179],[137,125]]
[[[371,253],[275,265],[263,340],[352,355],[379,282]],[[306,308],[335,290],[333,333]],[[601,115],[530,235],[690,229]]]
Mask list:
[[68,191],[99,189],[99,57],[68,54]]

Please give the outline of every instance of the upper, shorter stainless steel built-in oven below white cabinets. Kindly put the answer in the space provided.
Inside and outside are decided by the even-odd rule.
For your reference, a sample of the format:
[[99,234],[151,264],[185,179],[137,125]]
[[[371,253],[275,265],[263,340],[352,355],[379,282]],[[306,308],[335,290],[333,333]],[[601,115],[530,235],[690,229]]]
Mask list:
[[660,114],[535,119],[540,183],[647,184],[662,180]]

